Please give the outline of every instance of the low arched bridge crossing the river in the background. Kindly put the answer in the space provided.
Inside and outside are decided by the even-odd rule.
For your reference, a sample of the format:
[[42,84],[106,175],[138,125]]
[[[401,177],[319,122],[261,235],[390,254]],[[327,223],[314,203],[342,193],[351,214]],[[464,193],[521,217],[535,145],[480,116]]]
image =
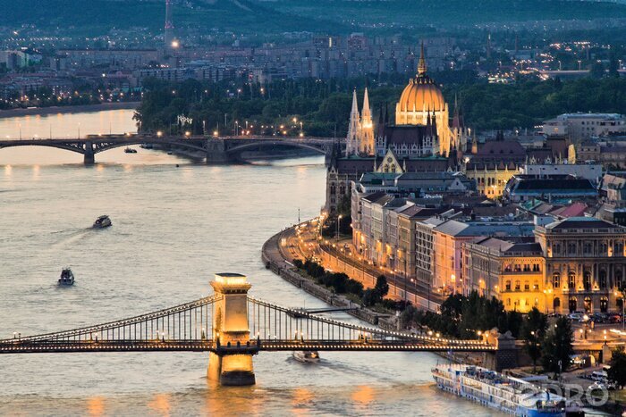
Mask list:
[[0,140],[0,149],[15,146],[47,146],[84,155],[86,164],[95,163],[95,154],[109,149],[133,145],[157,145],[181,148],[204,155],[207,163],[233,163],[241,153],[259,147],[292,146],[329,155],[337,139],[311,137],[173,137],[155,135],[89,135],[86,138],[27,138]]

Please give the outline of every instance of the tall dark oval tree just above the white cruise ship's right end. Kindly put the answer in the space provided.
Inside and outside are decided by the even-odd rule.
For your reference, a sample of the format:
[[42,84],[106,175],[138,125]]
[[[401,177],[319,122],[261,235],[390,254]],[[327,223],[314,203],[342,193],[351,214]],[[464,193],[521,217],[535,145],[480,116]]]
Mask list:
[[541,349],[541,362],[546,371],[561,373],[570,366],[570,357],[574,354],[571,346],[573,332],[567,317],[559,318],[554,328],[547,332]]

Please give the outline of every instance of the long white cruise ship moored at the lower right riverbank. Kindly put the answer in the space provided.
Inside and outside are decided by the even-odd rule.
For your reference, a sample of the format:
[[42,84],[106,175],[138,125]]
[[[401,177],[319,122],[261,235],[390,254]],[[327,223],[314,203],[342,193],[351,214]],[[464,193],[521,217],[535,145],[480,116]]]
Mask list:
[[448,363],[436,365],[432,374],[437,388],[503,413],[522,417],[566,415],[563,396],[549,394],[523,379],[478,366]]

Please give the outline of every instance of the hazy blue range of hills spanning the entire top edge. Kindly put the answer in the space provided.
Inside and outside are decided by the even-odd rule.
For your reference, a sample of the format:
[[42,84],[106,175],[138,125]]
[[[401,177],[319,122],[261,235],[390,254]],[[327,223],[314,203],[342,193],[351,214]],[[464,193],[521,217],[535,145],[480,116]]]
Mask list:
[[[163,27],[165,0],[0,0],[0,26]],[[179,28],[238,33],[454,28],[487,22],[626,18],[626,4],[580,0],[187,0],[176,2]]]

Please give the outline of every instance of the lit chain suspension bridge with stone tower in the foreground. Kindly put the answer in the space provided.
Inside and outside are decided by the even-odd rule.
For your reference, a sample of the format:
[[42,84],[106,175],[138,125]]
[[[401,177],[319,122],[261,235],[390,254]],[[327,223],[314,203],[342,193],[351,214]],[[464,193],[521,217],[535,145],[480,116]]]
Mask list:
[[497,346],[336,321],[248,295],[244,275],[216,274],[213,296],[154,313],[29,337],[0,340],[0,354],[208,352],[207,376],[223,385],[255,383],[252,356],[273,351],[492,352]]

